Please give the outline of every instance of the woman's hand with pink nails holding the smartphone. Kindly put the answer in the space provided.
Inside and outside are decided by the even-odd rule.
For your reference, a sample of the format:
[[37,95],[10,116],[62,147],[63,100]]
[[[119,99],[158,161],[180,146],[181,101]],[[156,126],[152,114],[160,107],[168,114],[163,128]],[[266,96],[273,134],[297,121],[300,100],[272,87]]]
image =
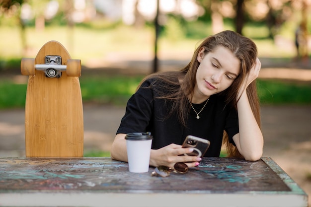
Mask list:
[[178,144],[169,144],[160,149],[152,149],[150,155],[150,165],[157,167],[164,165],[167,167],[173,167],[176,162],[186,162],[188,167],[196,167],[201,161],[201,157],[183,155],[190,153],[193,148],[182,148]]

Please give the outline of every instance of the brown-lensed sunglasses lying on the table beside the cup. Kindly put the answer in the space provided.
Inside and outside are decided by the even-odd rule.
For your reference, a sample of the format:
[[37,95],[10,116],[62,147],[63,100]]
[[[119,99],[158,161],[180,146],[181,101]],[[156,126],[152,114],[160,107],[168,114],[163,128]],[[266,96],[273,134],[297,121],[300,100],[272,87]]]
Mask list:
[[151,176],[167,177],[171,172],[185,174],[188,172],[188,166],[183,162],[175,163],[174,167],[160,165],[151,173]]

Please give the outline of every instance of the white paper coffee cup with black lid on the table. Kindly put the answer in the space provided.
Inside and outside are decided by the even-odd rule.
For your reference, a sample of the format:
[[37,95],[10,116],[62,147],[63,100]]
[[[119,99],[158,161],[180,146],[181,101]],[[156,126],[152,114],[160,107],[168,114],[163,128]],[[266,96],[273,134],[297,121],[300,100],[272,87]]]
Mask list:
[[151,133],[129,133],[125,139],[130,172],[148,172],[153,139]]

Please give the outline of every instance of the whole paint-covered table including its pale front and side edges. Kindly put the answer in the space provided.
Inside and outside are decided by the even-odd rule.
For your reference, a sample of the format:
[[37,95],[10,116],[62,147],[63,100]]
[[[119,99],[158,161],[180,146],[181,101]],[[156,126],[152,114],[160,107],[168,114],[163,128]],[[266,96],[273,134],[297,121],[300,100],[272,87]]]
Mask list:
[[0,206],[308,206],[307,194],[269,157],[203,158],[164,178],[153,171],[131,173],[109,157],[0,158]]

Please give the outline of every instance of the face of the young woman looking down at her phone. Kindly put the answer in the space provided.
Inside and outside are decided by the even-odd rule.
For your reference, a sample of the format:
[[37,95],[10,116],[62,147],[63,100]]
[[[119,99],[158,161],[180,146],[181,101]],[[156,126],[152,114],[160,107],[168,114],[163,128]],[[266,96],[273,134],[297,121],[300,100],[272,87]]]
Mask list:
[[194,103],[202,103],[207,96],[226,90],[239,74],[239,60],[223,46],[206,55],[202,48],[197,60],[200,65],[196,74]]

